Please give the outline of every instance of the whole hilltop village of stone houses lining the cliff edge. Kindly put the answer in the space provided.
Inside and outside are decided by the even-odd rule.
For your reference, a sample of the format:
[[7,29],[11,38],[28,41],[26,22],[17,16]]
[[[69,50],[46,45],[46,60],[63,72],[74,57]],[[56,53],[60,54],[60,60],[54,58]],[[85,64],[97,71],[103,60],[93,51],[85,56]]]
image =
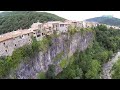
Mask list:
[[[42,40],[46,35],[53,34],[56,31],[58,34],[67,32],[69,26],[73,28],[90,28],[100,25],[96,22],[87,21],[49,21],[46,23],[33,23],[29,29],[18,29],[13,32],[0,35],[0,56],[11,56],[12,52],[26,44],[32,42],[31,36],[35,37],[37,41]],[[116,26],[106,25],[107,28],[120,29]]]

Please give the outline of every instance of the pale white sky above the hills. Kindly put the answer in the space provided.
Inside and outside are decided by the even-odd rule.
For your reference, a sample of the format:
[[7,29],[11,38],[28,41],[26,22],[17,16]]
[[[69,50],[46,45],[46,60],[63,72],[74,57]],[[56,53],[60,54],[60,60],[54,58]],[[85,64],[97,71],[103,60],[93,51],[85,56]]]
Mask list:
[[112,15],[116,18],[120,18],[120,11],[40,11],[40,12],[48,12],[48,13],[56,14],[65,19],[78,20],[78,21],[99,17],[102,15]]

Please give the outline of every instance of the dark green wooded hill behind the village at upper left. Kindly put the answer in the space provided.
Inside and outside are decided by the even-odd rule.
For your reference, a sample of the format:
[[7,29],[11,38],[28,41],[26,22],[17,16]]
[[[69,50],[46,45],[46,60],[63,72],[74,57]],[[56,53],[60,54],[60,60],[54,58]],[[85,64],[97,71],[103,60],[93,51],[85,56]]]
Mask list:
[[13,11],[0,13],[0,34],[29,28],[34,22],[64,21],[57,15],[35,11]]

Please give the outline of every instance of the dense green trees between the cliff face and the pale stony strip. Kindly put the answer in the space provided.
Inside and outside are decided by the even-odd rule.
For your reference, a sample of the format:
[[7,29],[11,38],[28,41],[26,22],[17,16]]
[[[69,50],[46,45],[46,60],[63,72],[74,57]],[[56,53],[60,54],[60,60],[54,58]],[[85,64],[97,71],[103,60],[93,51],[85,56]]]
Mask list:
[[111,58],[113,52],[120,49],[120,30],[107,29],[100,25],[95,30],[92,47],[72,56],[73,63],[59,73],[57,79],[99,79],[102,65]]

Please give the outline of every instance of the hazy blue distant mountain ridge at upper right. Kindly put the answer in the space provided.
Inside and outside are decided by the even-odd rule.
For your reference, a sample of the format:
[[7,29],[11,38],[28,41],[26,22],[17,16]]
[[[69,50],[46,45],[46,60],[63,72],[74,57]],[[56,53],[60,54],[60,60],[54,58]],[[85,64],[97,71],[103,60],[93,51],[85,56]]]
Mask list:
[[113,25],[113,26],[120,26],[120,19],[115,18],[111,15],[103,15],[101,17],[86,19],[85,21],[98,22],[98,23]]

